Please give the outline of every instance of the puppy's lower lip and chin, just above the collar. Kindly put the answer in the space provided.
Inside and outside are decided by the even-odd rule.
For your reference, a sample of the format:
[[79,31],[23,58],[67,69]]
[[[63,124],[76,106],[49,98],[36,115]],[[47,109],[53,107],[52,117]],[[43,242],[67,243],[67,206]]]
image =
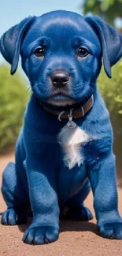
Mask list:
[[63,94],[52,95],[45,102],[53,106],[72,106],[76,103],[73,98]]

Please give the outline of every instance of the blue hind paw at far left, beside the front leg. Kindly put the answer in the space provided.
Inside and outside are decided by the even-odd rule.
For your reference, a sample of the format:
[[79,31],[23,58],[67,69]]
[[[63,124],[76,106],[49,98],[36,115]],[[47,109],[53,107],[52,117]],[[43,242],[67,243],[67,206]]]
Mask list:
[[17,225],[24,224],[26,222],[26,214],[25,213],[17,213],[13,208],[7,209],[4,213],[2,213],[2,224],[5,225]]

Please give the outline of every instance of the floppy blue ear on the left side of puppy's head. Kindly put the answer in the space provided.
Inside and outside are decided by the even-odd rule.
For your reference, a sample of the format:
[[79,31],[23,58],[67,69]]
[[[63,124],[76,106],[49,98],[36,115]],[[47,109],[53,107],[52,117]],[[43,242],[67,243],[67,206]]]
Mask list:
[[28,31],[33,20],[34,17],[28,17],[2,35],[0,40],[0,50],[3,57],[11,65],[11,75],[13,75],[17,70],[20,45],[22,39],[24,39],[25,32]]

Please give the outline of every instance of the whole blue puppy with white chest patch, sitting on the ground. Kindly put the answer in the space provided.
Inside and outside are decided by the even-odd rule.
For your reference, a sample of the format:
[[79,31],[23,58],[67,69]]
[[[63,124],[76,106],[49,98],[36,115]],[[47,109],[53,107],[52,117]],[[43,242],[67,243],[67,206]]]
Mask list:
[[21,56],[32,91],[16,163],[3,173],[2,224],[25,223],[31,206],[24,242],[54,242],[60,216],[91,220],[83,201],[92,188],[100,236],[122,239],[113,130],[96,86],[102,61],[110,78],[122,57],[122,35],[99,17],[54,11],[10,28],[1,52],[11,74]]

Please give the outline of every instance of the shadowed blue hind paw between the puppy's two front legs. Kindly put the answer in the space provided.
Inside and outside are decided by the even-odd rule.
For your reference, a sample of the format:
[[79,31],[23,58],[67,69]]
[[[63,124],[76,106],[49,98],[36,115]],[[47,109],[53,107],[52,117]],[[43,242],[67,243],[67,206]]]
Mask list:
[[90,221],[93,219],[93,215],[87,207],[80,206],[69,209],[64,218],[71,221]]

